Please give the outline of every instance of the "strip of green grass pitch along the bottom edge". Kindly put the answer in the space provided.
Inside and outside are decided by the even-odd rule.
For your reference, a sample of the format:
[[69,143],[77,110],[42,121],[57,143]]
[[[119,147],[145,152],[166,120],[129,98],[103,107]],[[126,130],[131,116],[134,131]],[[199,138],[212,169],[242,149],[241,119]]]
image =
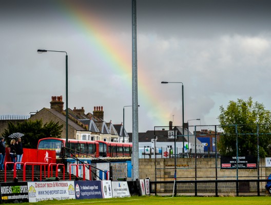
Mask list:
[[197,204],[197,205],[251,205],[251,204],[271,204],[271,197],[269,196],[246,196],[246,197],[162,197],[162,196],[132,196],[127,198],[109,198],[109,199],[82,199],[82,200],[52,200],[52,201],[41,201],[35,203],[21,203],[21,204],[54,204],[54,205],[72,205],[72,204],[115,204],[115,205],[168,205],[168,204]]

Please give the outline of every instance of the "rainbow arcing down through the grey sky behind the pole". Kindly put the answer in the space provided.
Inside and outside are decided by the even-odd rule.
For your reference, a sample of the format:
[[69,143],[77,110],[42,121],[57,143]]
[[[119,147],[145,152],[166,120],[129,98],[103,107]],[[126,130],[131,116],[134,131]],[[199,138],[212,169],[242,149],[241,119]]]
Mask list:
[[[92,12],[87,10],[84,5],[79,4],[78,1],[62,1],[60,7],[69,21],[86,34],[86,42],[91,45],[91,48],[94,48],[98,56],[97,60],[107,64],[109,69],[107,72],[130,76],[123,79],[131,88],[131,53],[129,56],[129,53],[120,47],[121,44],[116,39],[104,35],[109,33],[105,27],[102,27],[104,24],[99,22],[98,18],[93,16]],[[148,79],[145,79],[144,76],[146,76],[144,75],[144,65],[141,65],[138,69],[139,104],[146,108],[145,113],[152,119],[153,126],[168,126],[170,111],[157,104],[159,101],[157,90],[147,84]],[[160,82],[158,83],[160,84]]]

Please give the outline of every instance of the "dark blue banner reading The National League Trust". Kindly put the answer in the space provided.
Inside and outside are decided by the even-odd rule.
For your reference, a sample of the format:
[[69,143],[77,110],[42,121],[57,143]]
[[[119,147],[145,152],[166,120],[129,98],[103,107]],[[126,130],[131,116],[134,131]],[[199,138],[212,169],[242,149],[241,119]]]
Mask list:
[[75,199],[103,198],[101,181],[74,181]]

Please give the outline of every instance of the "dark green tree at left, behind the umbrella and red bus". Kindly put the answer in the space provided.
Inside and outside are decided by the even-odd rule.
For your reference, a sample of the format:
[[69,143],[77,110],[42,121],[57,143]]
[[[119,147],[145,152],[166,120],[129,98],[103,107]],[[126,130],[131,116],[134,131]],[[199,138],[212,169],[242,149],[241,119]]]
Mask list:
[[[26,120],[13,124],[9,122],[8,128],[5,129],[3,136],[9,139],[8,136],[12,133],[20,132],[23,133],[22,143],[24,148],[37,148],[38,140],[46,137],[61,137],[63,125],[59,125],[59,122],[50,121],[43,125],[42,120]],[[9,139],[10,141],[10,139]]]

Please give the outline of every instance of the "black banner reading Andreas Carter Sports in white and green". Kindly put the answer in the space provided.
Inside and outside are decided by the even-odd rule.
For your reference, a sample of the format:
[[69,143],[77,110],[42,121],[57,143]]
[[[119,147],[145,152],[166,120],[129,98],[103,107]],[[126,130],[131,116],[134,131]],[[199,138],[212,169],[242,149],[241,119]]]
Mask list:
[[2,182],[1,203],[28,202],[27,182]]

